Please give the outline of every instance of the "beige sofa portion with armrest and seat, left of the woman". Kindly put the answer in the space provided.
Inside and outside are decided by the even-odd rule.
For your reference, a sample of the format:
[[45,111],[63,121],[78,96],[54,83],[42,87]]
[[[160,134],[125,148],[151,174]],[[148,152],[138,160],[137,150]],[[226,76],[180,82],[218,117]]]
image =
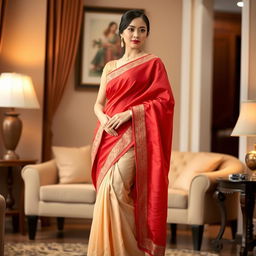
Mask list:
[[[90,151],[85,151],[83,154],[85,156],[83,165],[85,164],[87,168],[82,172],[89,173]],[[77,163],[77,157],[75,161]],[[92,218],[96,198],[93,185],[91,183],[59,183],[56,159],[25,166],[22,169],[22,178],[25,184],[24,210],[28,220],[30,240],[35,239],[39,216],[57,217],[59,230],[63,229],[64,218]]]

